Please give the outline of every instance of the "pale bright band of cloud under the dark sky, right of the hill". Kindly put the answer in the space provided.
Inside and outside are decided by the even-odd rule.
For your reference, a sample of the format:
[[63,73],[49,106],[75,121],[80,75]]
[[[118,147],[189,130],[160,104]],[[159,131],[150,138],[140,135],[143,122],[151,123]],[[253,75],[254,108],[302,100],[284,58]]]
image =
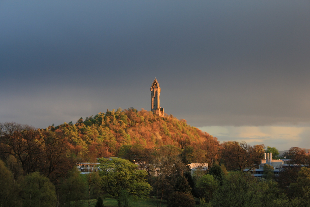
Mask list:
[[278,150],[290,147],[310,148],[310,126],[207,126],[200,127],[219,139],[225,141],[245,141],[250,145],[264,144]]

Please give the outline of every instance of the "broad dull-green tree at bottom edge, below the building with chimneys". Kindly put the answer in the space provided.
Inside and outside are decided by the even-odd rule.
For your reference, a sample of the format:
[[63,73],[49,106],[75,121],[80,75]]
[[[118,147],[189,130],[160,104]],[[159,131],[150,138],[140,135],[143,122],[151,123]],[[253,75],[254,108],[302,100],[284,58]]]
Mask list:
[[230,173],[211,199],[213,207],[280,207],[287,206],[287,201],[277,182],[243,172]]

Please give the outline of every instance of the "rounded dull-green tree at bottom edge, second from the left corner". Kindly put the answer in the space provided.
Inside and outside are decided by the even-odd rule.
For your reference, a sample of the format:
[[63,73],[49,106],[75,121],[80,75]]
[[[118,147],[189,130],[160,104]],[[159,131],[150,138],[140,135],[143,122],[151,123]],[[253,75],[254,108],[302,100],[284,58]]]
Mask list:
[[21,184],[23,206],[54,207],[57,202],[55,186],[38,172],[30,173]]

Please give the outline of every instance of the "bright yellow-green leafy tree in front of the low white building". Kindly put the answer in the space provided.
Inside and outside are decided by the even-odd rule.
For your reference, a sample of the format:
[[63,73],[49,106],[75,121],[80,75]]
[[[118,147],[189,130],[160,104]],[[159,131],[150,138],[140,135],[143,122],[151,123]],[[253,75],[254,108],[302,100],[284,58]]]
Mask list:
[[146,197],[152,190],[152,187],[145,181],[147,172],[139,170],[137,165],[129,160],[100,158],[98,161],[100,162],[101,188],[113,198],[117,199],[123,190],[127,191],[130,196],[137,197]]

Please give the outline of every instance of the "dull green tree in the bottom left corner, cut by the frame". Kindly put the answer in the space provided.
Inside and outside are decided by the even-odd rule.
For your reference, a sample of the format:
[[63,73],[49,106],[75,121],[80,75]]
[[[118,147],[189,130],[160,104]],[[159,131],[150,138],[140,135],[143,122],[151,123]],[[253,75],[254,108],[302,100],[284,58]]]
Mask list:
[[20,191],[13,179],[13,174],[5,166],[4,162],[0,160],[0,206],[20,206],[20,198],[18,193]]

